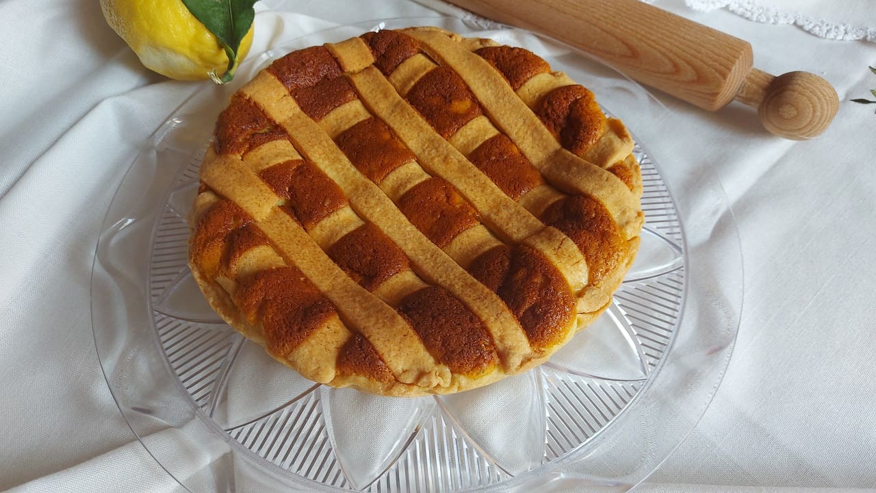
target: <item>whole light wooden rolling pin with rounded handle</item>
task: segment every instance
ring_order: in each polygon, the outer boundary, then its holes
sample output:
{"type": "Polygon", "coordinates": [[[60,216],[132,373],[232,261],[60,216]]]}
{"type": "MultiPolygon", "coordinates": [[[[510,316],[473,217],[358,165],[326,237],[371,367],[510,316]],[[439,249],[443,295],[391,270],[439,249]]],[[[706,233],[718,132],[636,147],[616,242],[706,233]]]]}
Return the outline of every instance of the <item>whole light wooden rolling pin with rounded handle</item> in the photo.
{"type": "Polygon", "coordinates": [[[754,106],[764,127],[786,139],[821,134],[839,109],[837,91],[822,77],[752,68],[747,42],[639,0],[449,1],[548,34],[704,110],[734,99],[754,106]]]}

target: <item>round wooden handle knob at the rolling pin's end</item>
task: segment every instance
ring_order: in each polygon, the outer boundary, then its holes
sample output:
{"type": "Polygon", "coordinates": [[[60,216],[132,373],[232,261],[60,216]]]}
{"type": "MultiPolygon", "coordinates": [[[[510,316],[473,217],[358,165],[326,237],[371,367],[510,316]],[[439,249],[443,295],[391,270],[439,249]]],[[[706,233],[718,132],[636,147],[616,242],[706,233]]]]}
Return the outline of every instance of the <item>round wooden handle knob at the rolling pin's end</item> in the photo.
{"type": "Polygon", "coordinates": [[[774,77],[752,68],[736,98],[757,107],[764,128],[786,139],[821,135],[839,110],[837,90],[809,72],[774,77]]]}

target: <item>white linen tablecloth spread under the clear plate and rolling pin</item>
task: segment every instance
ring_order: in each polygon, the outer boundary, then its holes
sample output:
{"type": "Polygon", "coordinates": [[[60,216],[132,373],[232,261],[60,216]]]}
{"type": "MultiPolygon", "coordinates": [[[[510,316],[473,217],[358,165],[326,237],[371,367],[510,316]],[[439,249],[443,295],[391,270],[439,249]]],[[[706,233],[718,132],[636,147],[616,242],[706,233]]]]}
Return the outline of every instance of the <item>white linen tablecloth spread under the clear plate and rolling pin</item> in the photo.
{"type": "MultiPolygon", "coordinates": [[[[660,96],[688,134],[648,146],[655,154],[701,146],[696,160],[675,165],[721,177],[738,221],[745,306],[709,411],[640,489],[874,489],[876,115],[849,99],[876,88],[867,69],[876,46],[656,4],[752,42],[758,68],[823,75],[842,103],[823,137],[792,142],[768,135],[741,106],[705,114],[660,96]]],[[[830,4],[872,10],[868,0],[830,4]]],[[[258,14],[253,54],[329,25],[435,15],[402,0],[293,9],[301,14],[258,14]]],[[[200,86],[142,68],[95,2],[0,3],[0,46],[0,489],[181,490],[109,395],[89,275],[124,171],[200,86]]]]}

